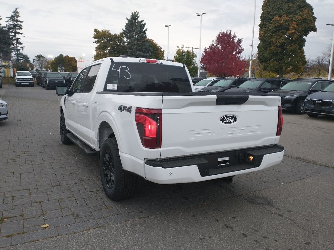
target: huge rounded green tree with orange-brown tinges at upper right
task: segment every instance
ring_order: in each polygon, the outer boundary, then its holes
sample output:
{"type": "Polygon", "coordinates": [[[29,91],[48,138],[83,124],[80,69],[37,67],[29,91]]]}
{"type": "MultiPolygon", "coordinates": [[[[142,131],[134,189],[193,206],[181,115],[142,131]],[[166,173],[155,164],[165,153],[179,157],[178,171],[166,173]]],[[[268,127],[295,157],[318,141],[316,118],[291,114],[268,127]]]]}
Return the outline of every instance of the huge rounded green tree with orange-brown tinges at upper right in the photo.
{"type": "Polygon", "coordinates": [[[305,38],[317,31],[313,7],[306,0],[265,0],[259,24],[258,59],[264,70],[282,77],[306,64],[305,38]]]}

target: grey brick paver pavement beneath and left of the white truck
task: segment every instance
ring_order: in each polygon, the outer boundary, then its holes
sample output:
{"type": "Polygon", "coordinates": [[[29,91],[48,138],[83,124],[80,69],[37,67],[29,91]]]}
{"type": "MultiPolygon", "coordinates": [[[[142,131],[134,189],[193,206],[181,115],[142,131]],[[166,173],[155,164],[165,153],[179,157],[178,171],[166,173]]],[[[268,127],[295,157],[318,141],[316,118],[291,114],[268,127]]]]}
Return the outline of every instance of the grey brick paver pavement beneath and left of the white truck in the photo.
{"type": "Polygon", "coordinates": [[[285,157],[277,166],[222,180],[159,185],[145,180],[132,199],[103,192],[96,157],[59,137],[59,100],[40,86],[0,89],[9,118],[0,122],[0,247],[210,203],[331,168],[285,157]],[[49,224],[48,227],[41,227],[49,224]]]}

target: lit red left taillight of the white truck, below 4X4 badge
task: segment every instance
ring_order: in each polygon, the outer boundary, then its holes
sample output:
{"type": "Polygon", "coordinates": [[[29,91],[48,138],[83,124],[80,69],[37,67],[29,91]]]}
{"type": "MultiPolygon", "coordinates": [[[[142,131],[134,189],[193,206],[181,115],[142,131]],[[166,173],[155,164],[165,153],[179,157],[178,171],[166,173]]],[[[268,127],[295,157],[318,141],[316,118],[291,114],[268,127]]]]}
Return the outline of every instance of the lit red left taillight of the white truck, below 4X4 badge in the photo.
{"type": "Polygon", "coordinates": [[[161,147],[162,109],[136,108],[136,124],[145,148],[161,147]]]}

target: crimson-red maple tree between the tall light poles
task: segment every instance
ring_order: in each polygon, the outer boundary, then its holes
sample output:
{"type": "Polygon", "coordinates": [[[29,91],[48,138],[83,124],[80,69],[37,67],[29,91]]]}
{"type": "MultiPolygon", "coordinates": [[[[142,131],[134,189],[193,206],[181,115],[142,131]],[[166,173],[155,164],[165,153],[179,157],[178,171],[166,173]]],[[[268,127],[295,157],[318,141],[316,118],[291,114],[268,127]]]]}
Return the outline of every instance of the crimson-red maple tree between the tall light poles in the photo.
{"type": "Polygon", "coordinates": [[[235,33],[221,31],[216,40],[204,48],[202,68],[218,77],[241,76],[247,67],[245,57],[241,57],[241,43],[242,39],[237,39],[235,33]]]}

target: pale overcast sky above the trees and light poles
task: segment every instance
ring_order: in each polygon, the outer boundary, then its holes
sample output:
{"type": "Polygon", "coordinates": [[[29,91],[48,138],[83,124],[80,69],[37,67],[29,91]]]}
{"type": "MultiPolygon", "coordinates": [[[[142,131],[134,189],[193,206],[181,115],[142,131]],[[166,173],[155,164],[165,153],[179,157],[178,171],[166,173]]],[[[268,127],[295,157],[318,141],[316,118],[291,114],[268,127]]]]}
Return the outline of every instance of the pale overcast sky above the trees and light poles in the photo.
{"type": "MultiPolygon", "coordinates": [[[[315,58],[331,45],[334,24],[334,0],[308,0],[314,8],[318,32],[311,32],[306,38],[306,57],[315,58]]],[[[254,50],[259,43],[259,23],[263,1],[257,0],[254,50]]],[[[120,33],[131,12],[139,11],[140,20],[145,20],[147,36],[165,50],[167,57],[167,28],[169,29],[169,58],[174,58],[176,46],[199,47],[200,17],[203,13],[201,51],[214,40],[220,31],[227,29],[242,38],[243,56],[251,54],[254,0],[129,0],[129,1],[2,1],[1,24],[5,25],[8,16],[19,7],[23,21],[21,41],[23,53],[30,60],[38,55],[58,56],[60,53],[73,57],[86,55],[93,60],[96,44],[93,43],[94,29],[120,33]]],[[[198,53],[198,50],[194,50],[198,53]]]]}

